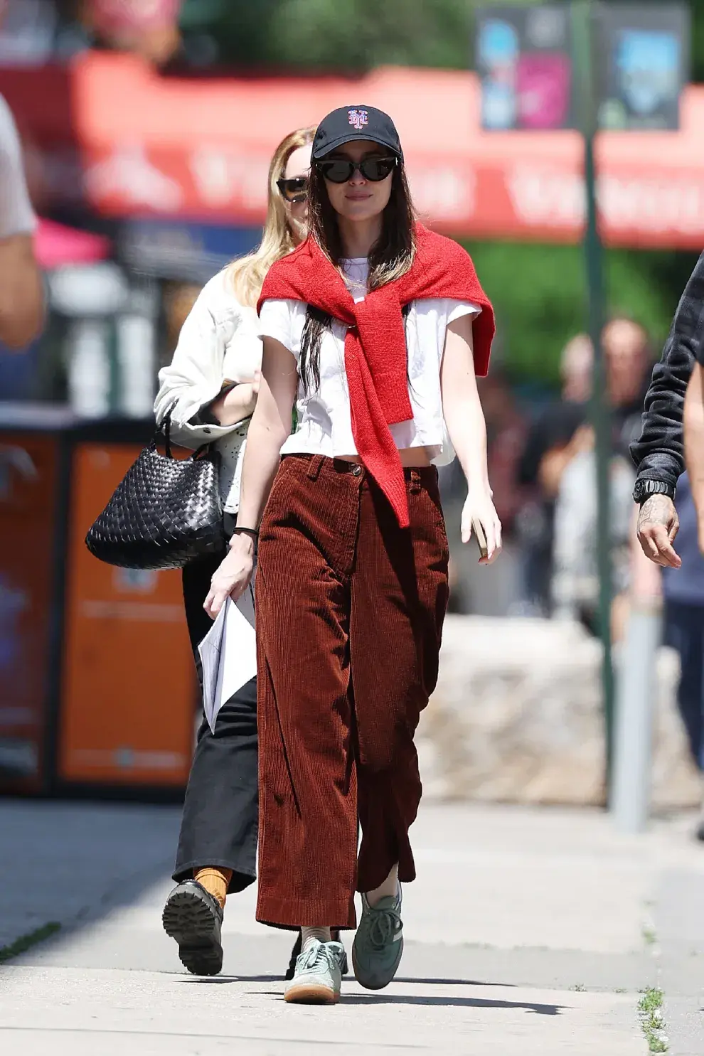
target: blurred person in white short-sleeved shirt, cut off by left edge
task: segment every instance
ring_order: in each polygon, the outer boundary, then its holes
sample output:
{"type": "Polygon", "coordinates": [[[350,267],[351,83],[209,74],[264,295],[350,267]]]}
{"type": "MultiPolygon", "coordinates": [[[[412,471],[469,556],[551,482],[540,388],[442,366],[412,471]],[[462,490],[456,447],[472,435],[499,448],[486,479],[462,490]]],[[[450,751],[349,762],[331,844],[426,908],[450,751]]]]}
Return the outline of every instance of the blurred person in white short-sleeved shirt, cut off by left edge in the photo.
{"type": "Polygon", "coordinates": [[[8,348],[26,347],[43,322],[36,226],[17,127],[0,95],[0,343],[8,348]]]}

